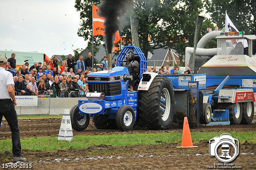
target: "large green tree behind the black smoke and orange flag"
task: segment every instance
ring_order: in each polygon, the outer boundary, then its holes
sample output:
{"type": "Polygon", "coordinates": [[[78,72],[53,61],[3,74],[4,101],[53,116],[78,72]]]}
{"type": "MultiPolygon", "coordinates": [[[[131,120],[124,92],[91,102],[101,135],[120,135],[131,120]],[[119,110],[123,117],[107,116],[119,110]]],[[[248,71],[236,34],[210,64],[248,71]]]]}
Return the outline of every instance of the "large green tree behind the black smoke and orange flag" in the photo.
{"type": "MultiPolygon", "coordinates": [[[[94,1],[96,5],[99,3],[99,0],[94,1]]],[[[131,45],[130,16],[138,17],[140,18],[139,43],[146,58],[148,52],[154,53],[155,49],[172,48],[180,54],[182,60],[185,48],[193,46],[196,17],[202,12],[203,3],[198,0],[135,0],[133,3],[133,8],[120,18],[122,29],[119,32],[123,37],[124,45],[131,45]]],[[[89,40],[88,47],[91,47],[92,2],[76,0],[75,8],[80,11],[82,19],[78,36],[89,40]]],[[[206,34],[208,27],[212,28],[213,25],[209,20],[205,20],[201,36],[206,34]]],[[[102,40],[102,36],[94,36],[95,46],[98,46],[102,40]]],[[[97,52],[96,49],[94,50],[97,52]]]]}

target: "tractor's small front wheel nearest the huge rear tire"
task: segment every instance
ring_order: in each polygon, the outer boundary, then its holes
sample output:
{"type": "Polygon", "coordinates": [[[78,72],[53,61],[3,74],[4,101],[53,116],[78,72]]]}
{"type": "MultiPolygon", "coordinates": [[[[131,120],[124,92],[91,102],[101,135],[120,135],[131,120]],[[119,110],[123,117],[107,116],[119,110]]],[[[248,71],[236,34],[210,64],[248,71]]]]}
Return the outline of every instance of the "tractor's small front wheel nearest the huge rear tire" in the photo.
{"type": "Polygon", "coordinates": [[[121,106],[116,114],[116,125],[119,130],[128,132],[135,122],[135,112],[129,105],[121,106]]]}

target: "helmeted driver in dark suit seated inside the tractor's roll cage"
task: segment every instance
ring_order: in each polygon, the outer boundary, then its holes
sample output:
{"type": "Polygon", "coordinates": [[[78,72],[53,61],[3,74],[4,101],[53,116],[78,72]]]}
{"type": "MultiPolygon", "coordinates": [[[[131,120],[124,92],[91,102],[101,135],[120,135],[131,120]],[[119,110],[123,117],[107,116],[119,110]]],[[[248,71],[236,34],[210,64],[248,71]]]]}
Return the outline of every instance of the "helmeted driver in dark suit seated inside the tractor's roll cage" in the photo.
{"type": "Polygon", "coordinates": [[[135,80],[139,79],[139,63],[135,60],[135,54],[132,51],[126,53],[126,61],[130,62],[127,63],[126,67],[128,68],[130,75],[133,76],[133,79],[129,81],[130,92],[133,92],[134,82],[135,80]]]}

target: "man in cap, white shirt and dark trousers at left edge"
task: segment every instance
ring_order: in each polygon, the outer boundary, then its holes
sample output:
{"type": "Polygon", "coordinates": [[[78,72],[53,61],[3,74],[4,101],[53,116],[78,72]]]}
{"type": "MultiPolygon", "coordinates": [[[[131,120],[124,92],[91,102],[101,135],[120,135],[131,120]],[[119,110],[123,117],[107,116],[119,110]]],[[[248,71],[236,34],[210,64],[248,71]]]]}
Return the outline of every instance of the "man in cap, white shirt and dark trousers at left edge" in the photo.
{"type": "MultiPolygon", "coordinates": [[[[0,122],[2,118],[6,119],[12,131],[12,153],[13,162],[24,162],[27,159],[21,156],[20,130],[18,126],[18,117],[14,106],[17,105],[13,86],[12,74],[5,70],[7,59],[0,55],[0,122]]],[[[0,125],[1,126],[1,125],[0,125]]]]}

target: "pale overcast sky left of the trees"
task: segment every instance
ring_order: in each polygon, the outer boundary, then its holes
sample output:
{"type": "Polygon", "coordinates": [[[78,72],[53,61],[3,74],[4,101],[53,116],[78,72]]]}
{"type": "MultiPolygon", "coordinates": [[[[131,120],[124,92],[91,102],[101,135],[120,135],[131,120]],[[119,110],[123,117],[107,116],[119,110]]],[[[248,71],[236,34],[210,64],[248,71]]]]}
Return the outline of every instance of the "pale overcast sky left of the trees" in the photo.
{"type": "Polygon", "coordinates": [[[77,35],[81,20],[74,0],[0,2],[0,50],[37,51],[51,57],[86,48],[77,35]]]}

